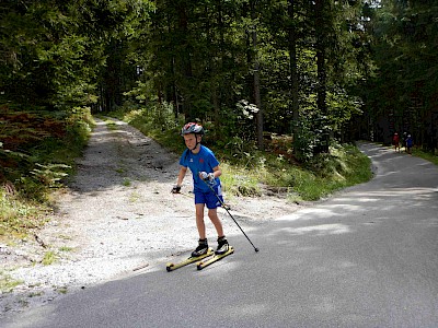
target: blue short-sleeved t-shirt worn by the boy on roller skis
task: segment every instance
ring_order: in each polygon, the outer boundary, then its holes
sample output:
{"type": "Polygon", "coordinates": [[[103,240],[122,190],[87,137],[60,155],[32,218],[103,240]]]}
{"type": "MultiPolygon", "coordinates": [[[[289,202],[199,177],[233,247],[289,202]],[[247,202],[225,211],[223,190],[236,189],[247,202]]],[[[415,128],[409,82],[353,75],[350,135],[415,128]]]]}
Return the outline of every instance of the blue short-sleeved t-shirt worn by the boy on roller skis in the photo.
{"type": "MultiPolygon", "coordinates": [[[[194,191],[210,191],[206,183],[200,179],[199,172],[212,173],[212,168],[219,165],[211,150],[205,145],[200,145],[199,152],[194,154],[191,150],[186,149],[180,159],[180,165],[188,167],[192,171],[194,191]]],[[[215,184],[220,185],[220,179],[216,178],[215,184]]]]}

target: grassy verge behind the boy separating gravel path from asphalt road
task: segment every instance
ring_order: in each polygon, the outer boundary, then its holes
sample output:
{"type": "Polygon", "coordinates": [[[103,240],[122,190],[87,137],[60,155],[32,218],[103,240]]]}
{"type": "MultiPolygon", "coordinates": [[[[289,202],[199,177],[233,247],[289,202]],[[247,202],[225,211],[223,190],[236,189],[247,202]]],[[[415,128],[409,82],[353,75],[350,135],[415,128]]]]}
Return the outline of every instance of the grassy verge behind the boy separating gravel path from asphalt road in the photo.
{"type": "MultiPolygon", "coordinates": [[[[164,118],[158,124],[146,109],[122,108],[110,116],[132,125],[177,154],[185,150],[178,134],[183,121],[175,124],[174,118],[164,118]]],[[[203,143],[216,153],[223,172],[223,189],[233,196],[260,196],[272,189],[286,192],[291,201],[312,201],[372,177],[370,160],[353,144],[334,144],[330,154],[316,155],[301,164],[291,155],[290,136],[277,136],[270,144],[267,142],[265,152],[239,138],[222,144],[209,138],[206,134],[203,143]]]]}

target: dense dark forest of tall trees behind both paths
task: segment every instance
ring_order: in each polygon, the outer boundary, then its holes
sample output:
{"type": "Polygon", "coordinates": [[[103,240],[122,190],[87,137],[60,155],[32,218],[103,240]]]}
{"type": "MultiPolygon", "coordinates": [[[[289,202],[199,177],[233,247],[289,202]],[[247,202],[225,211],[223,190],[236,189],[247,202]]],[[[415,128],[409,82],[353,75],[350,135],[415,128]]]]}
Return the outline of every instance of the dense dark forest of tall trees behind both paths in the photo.
{"type": "Polygon", "coordinates": [[[196,120],[244,154],[284,136],[297,163],[396,131],[438,148],[438,0],[3,0],[0,19],[3,184],[61,179],[42,140],[80,148],[107,113],[196,120]]]}

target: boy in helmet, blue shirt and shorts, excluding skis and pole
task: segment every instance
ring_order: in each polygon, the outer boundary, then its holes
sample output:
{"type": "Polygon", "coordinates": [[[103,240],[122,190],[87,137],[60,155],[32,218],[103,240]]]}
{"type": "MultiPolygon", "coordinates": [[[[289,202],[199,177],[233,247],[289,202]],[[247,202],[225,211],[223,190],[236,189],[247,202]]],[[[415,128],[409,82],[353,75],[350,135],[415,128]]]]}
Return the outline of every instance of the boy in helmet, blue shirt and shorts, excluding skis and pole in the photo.
{"type": "Polygon", "coordinates": [[[192,253],[193,257],[198,257],[207,253],[208,243],[206,226],[204,223],[204,208],[208,208],[208,218],[215,225],[218,234],[218,248],[216,254],[223,254],[229,249],[227,238],[223,234],[222,223],[219,220],[217,208],[221,204],[216,195],[222,200],[222,192],[219,176],[222,174],[219,162],[211,150],[200,144],[204,136],[204,128],[195,122],[188,122],[181,129],[187,149],[180,159],[180,173],[176,186],[172,192],[177,194],[187,172],[187,167],[193,174],[193,186],[195,194],[196,226],[199,234],[198,247],[192,253]],[[209,184],[209,186],[207,185],[209,184]],[[215,190],[215,192],[210,189],[215,190]]]}

